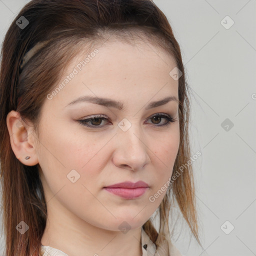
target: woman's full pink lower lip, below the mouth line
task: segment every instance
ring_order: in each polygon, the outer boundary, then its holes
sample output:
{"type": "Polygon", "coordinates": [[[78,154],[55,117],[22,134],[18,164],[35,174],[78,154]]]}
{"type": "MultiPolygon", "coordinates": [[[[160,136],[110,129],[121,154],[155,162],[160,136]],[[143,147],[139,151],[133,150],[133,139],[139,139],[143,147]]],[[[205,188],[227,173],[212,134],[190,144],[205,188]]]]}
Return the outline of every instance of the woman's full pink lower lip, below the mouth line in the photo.
{"type": "Polygon", "coordinates": [[[137,187],[137,188],[121,188],[121,187],[104,187],[110,193],[119,195],[125,199],[133,199],[141,196],[148,187],[137,187]]]}

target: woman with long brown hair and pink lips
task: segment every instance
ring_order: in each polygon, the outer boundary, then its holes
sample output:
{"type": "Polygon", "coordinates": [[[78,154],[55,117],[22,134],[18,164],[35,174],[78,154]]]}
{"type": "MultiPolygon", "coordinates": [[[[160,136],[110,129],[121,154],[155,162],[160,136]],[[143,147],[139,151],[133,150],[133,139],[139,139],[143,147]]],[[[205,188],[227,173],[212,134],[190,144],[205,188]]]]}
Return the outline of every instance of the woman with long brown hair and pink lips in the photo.
{"type": "Polygon", "coordinates": [[[32,0],[1,55],[6,256],[181,255],[175,203],[199,242],[184,67],[151,0],[32,0]]]}

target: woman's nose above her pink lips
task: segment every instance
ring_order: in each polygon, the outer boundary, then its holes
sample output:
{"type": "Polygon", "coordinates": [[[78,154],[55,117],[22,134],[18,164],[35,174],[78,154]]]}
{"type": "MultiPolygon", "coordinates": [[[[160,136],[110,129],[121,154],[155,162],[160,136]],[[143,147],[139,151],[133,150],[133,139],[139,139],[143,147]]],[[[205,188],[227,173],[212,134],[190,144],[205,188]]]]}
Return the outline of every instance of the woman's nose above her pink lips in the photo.
{"type": "Polygon", "coordinates": [[[115,139],[113,163],[117,167],[138,170],[150,162],[148,155],[150,149],[146,137],[135,124],[126,131],[118,129],[115,139]]]}

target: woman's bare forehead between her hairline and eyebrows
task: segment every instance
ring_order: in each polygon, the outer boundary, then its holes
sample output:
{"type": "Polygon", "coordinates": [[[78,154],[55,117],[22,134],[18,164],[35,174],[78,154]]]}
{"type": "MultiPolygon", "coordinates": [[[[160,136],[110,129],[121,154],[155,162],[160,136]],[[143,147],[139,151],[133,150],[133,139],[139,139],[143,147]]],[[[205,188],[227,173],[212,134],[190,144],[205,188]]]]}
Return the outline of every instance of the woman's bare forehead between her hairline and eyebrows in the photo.
{"type": "Polygon", "coordinates": [[[145,102],[154,95],[152,100],[167,94],[178,97],[178,81],[169,75],[174,67],[170,54],[149,43],[107,41],[92,46],[86,53],[81,50],[73,58],[58,82],[64,84],[64,89],[57,92],[51,103],[61,100],[66,105],[82,95],[134,103],[143,101],[142,95],[145,102]]]}

